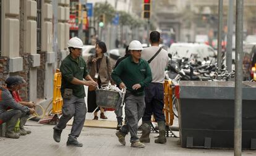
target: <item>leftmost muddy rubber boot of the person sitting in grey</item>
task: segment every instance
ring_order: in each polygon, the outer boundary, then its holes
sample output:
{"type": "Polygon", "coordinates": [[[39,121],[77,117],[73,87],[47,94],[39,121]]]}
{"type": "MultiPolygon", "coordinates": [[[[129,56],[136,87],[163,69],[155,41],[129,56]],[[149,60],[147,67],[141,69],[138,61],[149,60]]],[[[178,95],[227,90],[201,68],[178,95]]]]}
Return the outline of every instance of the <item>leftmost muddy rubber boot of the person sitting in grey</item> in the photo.
{"type": "Polygon", "coordinates": [[[19,139],[20,134],[14,132],[15,125],[19,120],[21,112],[17,112],[9,121],[6,122],[6,138],[19,139]]]}

